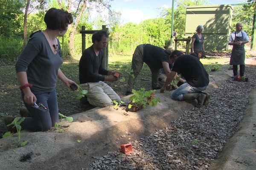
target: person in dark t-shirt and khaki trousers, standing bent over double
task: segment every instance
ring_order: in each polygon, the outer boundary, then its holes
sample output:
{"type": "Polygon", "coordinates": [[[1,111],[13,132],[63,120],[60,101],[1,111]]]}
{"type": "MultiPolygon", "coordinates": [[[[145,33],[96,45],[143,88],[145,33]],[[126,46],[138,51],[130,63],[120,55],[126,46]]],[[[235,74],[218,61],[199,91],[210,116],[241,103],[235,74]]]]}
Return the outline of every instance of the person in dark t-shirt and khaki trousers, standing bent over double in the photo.
{"type": "Polygon", "coordinates": [[[171,54],[170,50],[164,50],[163,48],[157,47],[151,44],[141,44],[138,45],[134,51],[131,61],[131,68],[133,71],[134,77],[131,75],[128,79],[128,86],[126,88],[125,95],[132,94],[132,88],[134,86],[135,79],[139,75],[143,63],[145,62],[151,70],[151,87],[152,89],[160,89],[161,86],[158,85],[158,76],[160,69],[163,68],[166,74],[169,74],[170,68],[169,64],[169,55],[171,54]]]}

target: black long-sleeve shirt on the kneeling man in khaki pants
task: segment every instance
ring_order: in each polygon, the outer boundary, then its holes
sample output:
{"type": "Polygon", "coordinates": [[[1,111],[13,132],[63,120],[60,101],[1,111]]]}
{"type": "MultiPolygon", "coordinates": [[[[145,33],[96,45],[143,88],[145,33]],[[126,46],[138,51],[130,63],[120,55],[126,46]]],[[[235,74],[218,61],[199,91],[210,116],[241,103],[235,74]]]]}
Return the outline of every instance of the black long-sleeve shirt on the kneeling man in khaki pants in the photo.
{"type": "Polygon", "coordinates": [[[79,61],[79,81],[80,84],[87,82],[104,81],[105,77],[100,76],[108,75],[108,71],[102,68],[103,51],[99,51],[96,56],[93,45],[84,50],[82,57],[79,61]]]}

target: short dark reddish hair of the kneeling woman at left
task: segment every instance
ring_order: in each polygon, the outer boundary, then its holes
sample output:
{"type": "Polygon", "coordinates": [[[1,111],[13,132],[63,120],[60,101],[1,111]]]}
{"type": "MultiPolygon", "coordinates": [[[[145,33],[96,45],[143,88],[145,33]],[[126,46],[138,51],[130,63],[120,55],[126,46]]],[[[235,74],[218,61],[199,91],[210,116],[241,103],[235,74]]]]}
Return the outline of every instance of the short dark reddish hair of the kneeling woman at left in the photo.
{"type": "Polygon", "coordinates": [[[44,22],[49,29],[64,31],[73,23],[73,16],[63,9],[50,8],[44,15],[44,22]]]}

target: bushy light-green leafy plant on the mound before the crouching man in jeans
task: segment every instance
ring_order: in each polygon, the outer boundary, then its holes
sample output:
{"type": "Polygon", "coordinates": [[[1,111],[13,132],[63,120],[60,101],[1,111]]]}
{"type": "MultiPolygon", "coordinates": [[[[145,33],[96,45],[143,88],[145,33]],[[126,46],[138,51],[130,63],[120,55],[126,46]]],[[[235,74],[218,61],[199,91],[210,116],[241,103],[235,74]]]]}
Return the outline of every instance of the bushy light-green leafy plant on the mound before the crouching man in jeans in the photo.
{"type": "Polygon", "coordinates": [[[132,89],[132,93],[134,95],[132,95],[129,99],[131,100],[131,103],[133,103],[133,104],[129,104],[128,108],[130,109],[133,105],[137,105],[138,107],[143,105],[143,108],[145,108],[147,106],[147,103],[150,106],[157,105],[157,102],[160,102],[159,97],[151,99],[150,101],[148,101],[148,99],[147,99],[148,97],[150,97],[152,95],[153,92],[156,92],[156,90],[145,91],[145,88],[141,88],[140,90],[136,91],[136,90],[132,89]]]}

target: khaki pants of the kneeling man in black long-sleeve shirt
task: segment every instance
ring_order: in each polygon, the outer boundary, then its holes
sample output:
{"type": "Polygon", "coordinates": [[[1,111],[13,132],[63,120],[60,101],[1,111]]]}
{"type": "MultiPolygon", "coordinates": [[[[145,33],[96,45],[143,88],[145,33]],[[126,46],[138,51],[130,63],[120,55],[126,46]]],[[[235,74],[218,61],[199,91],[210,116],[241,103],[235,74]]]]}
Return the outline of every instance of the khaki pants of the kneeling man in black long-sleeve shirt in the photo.
{"type": "Polygon", "coordinates": [[[93,106],[104,108],[113,105],[112,100],[116,100],[116,102],[121,100],[105,82],[88,82],[81,84],[80,87],[88,91],[86,94],[87,101],[93,106]]]}

